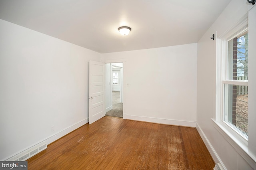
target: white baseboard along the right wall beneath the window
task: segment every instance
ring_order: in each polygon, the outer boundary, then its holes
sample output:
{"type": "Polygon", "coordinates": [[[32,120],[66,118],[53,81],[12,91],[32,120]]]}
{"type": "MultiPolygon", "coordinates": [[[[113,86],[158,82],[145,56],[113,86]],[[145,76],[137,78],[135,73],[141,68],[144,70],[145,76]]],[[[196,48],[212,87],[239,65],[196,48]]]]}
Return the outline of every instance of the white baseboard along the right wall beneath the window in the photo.
{"type": "Polygon", "coordinates": [[[200,126],[197,123],[196,123],[196,129],[197,129],[198,133],[200,134],[202,140],[204,141],[204,144],[206,145],[207,149],[209,150],[214,162],[220,163],[221,166],[224,168],[224,170],[227,170],[226,167],[224,166],[222,160],[218,156],[217,152],[214,150],[212,144],[210,143],[210,141],[204,134],[203,130],[200,128],[200,126]]]}

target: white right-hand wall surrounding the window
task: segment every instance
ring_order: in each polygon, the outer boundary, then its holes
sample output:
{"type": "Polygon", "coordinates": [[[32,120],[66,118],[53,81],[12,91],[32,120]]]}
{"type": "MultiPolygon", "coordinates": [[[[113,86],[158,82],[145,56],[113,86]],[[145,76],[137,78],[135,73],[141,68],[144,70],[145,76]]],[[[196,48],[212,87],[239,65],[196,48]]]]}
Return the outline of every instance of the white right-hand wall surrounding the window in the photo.
{"type": "MultiPolygon", "coordinates": [[[[232,0],[198,42],[197,126],[200,135],[208,146],[208,149],[211,152],[215,162],[224,164],[228,170],[253,169],[252,164],[255,164],[255,162],[250,160],[248,156],[239,154],[237,151],[239,148],[235,148],[234,144],[231,144],[231,140],[228,141],[226,138],[224,138],[223,133],[219,132],[217,128],[214,127],[212,118],[215,118],[216,114],[216,40],[211,40],[210,36],[217,32],[218,38],[218,35],[221,35],[227,31],[246,14],[247,1],[232,0]],[[252,163],[251,165],[248,163],[250,161],[252,163]]],[[[253,65],[255,64],[256,63],[253,65]]],[[[251,73],[253,73],[253,68],[250,69],[251,73]]],[[[256,73],[255,67],[253,71],[256,73]]],[[[250,88],[250,90],[250,92],[255,93],[255,89],[250,88]]],[[[252,133],[254,133],[255,136],[255,131],[252,133]]]]}

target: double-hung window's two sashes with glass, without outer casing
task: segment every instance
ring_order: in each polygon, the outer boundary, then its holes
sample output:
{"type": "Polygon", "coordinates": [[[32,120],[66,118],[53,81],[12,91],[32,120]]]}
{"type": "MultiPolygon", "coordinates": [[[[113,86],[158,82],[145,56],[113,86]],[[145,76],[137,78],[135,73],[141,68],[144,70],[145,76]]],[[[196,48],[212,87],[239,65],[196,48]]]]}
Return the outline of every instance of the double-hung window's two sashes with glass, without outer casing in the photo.
{"type": "Polygon", "coordinates": [[[248,31],[227,42],[223,56],[223,120],[248,138],[248,31]]]}

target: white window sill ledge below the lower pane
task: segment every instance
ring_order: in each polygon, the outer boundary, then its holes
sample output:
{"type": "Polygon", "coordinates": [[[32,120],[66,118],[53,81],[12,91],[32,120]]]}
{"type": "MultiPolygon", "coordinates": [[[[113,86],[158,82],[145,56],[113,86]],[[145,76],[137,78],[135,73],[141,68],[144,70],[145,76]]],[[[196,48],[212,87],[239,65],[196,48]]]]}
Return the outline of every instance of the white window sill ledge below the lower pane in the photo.
{"type": "Polygon", "coordinates": [[[225,125],[225,123],[215,121],[214,122],[214,128],[220,132],[220,134],[231,144],[231,146],[248,162],[250,165],[255,165],[256,157],[252,154],[250,154],[248,149],[248,142],[241,138],[241,140],[237,137],[234,132],[232,132],[231,129],[228,129],[229,127],[225,125]],[[227,128],[228,127],[228,128],[227,128]]]}

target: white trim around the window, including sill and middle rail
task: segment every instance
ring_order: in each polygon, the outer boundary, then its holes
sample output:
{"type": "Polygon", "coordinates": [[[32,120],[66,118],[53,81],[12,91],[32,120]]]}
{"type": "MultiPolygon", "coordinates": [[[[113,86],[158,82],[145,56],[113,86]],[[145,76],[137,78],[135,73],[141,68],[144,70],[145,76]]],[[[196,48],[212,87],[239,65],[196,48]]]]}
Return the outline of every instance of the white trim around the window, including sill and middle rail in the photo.
{"type": "MultiPolygon", "coordinates": [[[[226,45],[228,40],[231,40],[234,36],[239,35],[239,33],[248,30],[248,15],[244,15],[234,26],[224,32],[221,36],[218,36],[216,32],[216,113],[212,121],[214,122],[214,127],[222,136],[238,151],[238,153],[246,158],[249,164],[254,164],[256,162],[256,157],[249,151],[248,143],[250,138],[245,138],[242,134],[239,134],[222,121],[223,105],[224,102],[224,83],[226,84],[236,84],[236,85],[247,85],[248,80],[237,81],[237,80],[223,80],[223,74],[226,74],[226,70],[222,67],[227,61],[223,61],[223,55],[227,54],[226,45]]],[[[249,114],[249,113],[248,113],[249,114]]]]}

